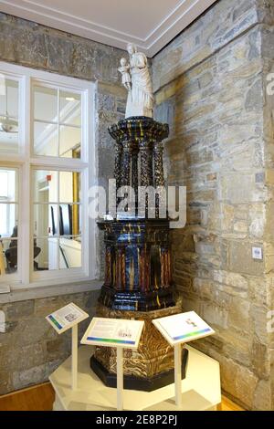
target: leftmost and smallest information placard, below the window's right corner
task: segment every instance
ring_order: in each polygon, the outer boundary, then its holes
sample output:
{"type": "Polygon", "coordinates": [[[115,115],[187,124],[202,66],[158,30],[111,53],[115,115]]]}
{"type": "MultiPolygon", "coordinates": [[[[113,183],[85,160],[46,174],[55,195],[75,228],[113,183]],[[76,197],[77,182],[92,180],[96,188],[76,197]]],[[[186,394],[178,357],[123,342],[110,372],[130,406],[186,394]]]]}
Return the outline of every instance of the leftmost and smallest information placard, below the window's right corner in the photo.
{"type": "Polygon", "coordinates": [[[47,321],[50,325],[61,334],[65,330],[69,330],[73,326],[77,325],[80,321],[88,319],[89,314],[79,309],[79,307],[71,302],[62,309],[58,309],[52,314],[47,316],[47,321]]]}

